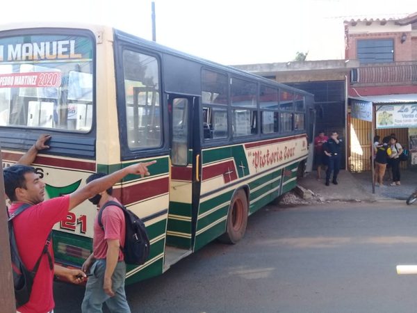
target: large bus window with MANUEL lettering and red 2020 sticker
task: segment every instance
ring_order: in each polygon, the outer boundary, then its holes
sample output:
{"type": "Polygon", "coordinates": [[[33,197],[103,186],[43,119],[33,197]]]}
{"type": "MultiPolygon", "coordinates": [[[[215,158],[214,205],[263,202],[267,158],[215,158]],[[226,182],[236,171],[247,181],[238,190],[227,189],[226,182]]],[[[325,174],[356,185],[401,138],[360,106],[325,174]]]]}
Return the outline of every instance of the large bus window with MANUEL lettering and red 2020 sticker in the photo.
{"type": "Polygon", "coordinates": [[[83,36],[0,38],[0,126],[90,131],[92,55],[83,36]]]}

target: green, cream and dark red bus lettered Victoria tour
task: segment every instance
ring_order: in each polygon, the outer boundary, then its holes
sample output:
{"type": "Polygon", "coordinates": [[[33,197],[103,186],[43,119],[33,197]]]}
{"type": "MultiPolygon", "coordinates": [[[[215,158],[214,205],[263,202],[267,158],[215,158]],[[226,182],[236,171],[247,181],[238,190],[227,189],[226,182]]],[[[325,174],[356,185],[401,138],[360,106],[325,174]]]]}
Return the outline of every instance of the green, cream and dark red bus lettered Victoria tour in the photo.
{"type": "MultiPolygon", "coordinates": [[[[93,172],[157,161],[114,186],[151,242],[127,284],[214,239],[237,243],[248,216],[296,186],[313,124],[309,93],[109,26],[0,26],[3,167],[51,134],[33,167],[54,198],[93,172]]],[[[85,202],[55,225],[58,264],[90,255],[95,214],[85,202]]]]}

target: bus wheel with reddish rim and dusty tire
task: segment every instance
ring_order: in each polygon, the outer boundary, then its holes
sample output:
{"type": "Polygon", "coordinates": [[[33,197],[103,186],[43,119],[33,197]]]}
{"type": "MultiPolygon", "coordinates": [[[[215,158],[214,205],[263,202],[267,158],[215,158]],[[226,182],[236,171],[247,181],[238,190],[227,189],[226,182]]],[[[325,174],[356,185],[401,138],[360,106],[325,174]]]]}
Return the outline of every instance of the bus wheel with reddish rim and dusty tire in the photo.
{"type": "Polygon", "coordinates": [[[226,232],[219,237],[222,243],[235,244],[246,231],[248,204],[246,193],[239,189],[231,200],[229,213],[227,214],[226,232]]]}

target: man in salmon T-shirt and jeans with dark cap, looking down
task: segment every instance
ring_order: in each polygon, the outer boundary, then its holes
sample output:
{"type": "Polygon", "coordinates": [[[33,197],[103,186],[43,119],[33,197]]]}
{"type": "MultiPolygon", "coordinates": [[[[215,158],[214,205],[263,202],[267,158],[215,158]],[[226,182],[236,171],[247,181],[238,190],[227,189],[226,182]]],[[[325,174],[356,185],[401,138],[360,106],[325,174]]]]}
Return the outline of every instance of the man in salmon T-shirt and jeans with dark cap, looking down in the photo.
{"type": "MultiPolygon", "coordinates": [[[[106,177],[106,174],[90,175],[87,182],[101,177],[106,177]]],[[[89,200],[99,210],[108,201],[119,202],[112,194],[113,188],[108,188],[89,200]]],[[[103,303],[106,303],[111,312],[130,313],[124,292],[126,264],[121,249],[126,232],[124,213],[120,207],[108,205],[101,214],[103,227],[99,225],[98,215],[94,220],[92,254],[82,266],[85,273],[90,271],[92,275],[85,286],[81,310],[83,313],[102,312],[103,303]]]]}

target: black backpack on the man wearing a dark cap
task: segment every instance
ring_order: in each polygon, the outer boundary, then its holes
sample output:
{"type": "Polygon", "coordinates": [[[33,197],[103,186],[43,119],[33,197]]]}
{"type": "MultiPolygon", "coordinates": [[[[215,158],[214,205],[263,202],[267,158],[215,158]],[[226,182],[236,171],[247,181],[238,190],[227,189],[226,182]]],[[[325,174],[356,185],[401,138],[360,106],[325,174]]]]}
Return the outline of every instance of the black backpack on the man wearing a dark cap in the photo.
{"type": "Polygon", "coordinates": [[[120,247],[123,251],[124,262],[126,264],[142,265],[149,257],[149,237],[146,232],[145,224],[132,211],[126,209],[122,204],[115,201],[106,202],[101,207],[98,216],[100,227],[104,230],[101,223],[101,215],[103,210],[109,205],[120,207],[124,213],[124,220],[126,223],[126,236],[124,237],[124,247],[120,247]]]}

